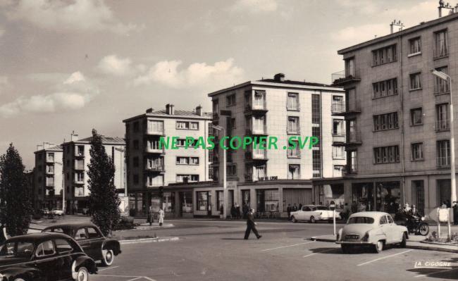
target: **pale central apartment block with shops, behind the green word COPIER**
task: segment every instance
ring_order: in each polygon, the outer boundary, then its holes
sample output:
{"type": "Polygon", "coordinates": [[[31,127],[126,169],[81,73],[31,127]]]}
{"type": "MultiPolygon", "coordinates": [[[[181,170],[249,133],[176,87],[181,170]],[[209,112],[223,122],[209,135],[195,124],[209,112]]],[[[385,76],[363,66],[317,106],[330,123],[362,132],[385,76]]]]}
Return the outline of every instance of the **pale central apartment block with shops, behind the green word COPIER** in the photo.
{"type": "MultiPolygon", "coordinates": [[[[319,204],[311,179],[338,177],[345,166],[344,120],[331,108],[345,101],[340,87],[273,79],[249,81],[209,94],[213,125],[230,137],[277,137],[278,149],[228,150],[228,208],[233,204],[286,215],[288,204],[319,204]],[[288,137],[318,137],[312,149],[284,149],[288,137]]],[[[221,131],[220,131],[221,132],[221,131]]],[[[213,131],[218,140],[223,135],[213,131]]],[[[194,185],[194,216],[218,216],[223,206],[223,149],[213,153],[213,185],[194,185]]],[[[229,213],[229,212],[228,212],[229,213]]]]}

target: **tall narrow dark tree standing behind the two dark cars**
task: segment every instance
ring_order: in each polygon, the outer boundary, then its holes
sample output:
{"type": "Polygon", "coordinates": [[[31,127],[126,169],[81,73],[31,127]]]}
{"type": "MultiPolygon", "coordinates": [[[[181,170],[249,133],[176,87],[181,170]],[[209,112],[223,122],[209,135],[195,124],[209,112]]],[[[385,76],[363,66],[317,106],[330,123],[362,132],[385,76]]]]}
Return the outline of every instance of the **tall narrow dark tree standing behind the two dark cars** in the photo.
{"type": "Polygon", "coordinates": [[[92,130],[89,170],[89,213],[92,223],[104,235],[110,235],[120,218],[120,200],[114,185],[115,166],[105,151],[101,135],[92,130]]]}

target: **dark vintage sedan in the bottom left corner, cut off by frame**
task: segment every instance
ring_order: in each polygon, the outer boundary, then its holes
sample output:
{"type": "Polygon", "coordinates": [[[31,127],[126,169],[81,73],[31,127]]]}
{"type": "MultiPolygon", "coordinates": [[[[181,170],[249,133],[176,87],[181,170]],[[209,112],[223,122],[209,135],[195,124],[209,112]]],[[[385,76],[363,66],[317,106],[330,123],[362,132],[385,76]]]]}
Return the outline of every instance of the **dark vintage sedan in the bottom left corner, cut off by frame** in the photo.
{"type": "Polygon", "coordinates": [[[68,235],[21,235],[0,246],[1,281],[87,281],[95,273],[94,260],[68,235]]]}

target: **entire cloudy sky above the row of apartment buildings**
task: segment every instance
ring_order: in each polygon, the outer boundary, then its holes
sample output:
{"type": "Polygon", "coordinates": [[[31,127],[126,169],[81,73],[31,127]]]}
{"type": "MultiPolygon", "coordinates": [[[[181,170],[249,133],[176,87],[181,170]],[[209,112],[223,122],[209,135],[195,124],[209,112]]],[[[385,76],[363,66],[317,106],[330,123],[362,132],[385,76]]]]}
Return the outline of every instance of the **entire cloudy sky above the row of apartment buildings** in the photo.
{"type": "Polygon", "coordinates": [[[285,73],[330,84],[338,49],[438,17],[438,1],[0,0],[0,154],[26,168],[75,131],[123,137],[165,104],[211,111],[208,93],[285,73]]]}

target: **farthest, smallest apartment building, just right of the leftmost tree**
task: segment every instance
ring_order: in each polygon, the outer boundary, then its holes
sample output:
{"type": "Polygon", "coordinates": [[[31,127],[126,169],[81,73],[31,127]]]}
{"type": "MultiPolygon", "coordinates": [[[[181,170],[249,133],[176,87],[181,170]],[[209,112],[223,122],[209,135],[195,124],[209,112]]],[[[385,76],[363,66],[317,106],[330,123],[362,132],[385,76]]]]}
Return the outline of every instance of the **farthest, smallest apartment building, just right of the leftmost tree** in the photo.
{"type": "MultiPolygon", "coordinates": [[[[33,182],[34,208],[62,208],[62,147],[44,142],[35,151],[33,182]]],[[[30,180],[30,179],[29,179],[30,180]]]]}

